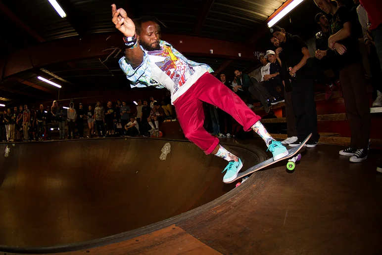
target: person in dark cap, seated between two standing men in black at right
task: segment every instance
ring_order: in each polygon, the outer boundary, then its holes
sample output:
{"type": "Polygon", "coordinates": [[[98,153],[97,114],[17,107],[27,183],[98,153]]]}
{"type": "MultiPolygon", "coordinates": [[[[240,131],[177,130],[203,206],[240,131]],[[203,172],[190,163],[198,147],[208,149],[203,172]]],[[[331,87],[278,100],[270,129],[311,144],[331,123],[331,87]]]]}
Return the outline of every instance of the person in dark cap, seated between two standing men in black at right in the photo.
{"type": "Polygon", "coordinates": [[[335,90],[334,83],[324,73],[325,70],[332,69],[334,79],[338,80],[338,69],[333,65],[333,57],[335,53],[328,47],[328,39],[330,37],[330,27],[327,17],[323,13],[318,13],[315,21],[321,27],[321,31],[316,34],[316,51],[313,57],[310,57],[306,64],[314,72],[316,80],[326,85],[325,99],[332,98],[335,90]]]}

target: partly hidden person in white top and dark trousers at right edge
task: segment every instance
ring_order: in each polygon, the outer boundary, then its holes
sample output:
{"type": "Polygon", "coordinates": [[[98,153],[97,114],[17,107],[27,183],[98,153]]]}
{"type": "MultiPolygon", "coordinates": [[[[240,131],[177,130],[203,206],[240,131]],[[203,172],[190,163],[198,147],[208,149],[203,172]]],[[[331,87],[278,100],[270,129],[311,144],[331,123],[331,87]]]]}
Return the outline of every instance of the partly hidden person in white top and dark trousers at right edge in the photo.
{"type": "MultiPolygon", "coordinates": [[[[359,4],[359,0],[354,0],[356,4],[359,4]]],[[[382,65],[378,58],[377,49],[375,46],[375,42],[371,33],[369,32],[369,18],[365,8],[359,4],[357,7],[358,19],[359,23],[362,27],[362,33],[364,42],[366,45],[366,51],[368,54],[368,60],[370,65],[371,72],[371,80],[373,84],[373,88],[375,90],[375,94],[377,95],[376,100],[373,102],[373,107],[381,107],[382,106],[382,83],[380,78],[382,77],[382,65]]]]}

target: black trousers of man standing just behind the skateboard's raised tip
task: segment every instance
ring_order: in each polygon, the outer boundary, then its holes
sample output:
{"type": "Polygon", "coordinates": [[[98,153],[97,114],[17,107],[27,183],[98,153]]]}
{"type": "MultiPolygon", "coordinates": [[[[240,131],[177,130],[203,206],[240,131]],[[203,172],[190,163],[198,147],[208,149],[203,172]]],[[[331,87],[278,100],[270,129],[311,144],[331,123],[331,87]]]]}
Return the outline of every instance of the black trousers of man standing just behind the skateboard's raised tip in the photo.
{"type": "Polygon", "coordinates": [[[317,132],[317,111],[312,79],[301,77],[292,81],[292,102],[298,139],[303,141],[312,133],[310,140],[318,141],[320,135],[317,132]]]}

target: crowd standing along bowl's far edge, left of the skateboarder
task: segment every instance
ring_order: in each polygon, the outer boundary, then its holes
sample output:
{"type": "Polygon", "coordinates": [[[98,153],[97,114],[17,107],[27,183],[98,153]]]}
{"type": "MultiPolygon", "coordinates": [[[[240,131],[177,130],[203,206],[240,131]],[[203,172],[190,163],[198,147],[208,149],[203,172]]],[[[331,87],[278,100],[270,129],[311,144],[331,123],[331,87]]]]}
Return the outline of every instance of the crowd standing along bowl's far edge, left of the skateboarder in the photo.
{"type": "Polygon", "coordinates": [[[20,105],[4,110],[0,114],[0,141],[43,141],[85,137],[148,136],[150,131],[159,129],[166,119],[176,119],[174,109],[168,101],[169,94],[162,98],[161,104],[150,97],[150,103],[137,100],[133,112],[126,101],[113,104],[108,101],[106,107],[101,102],[88,105],[82,103],[76,107],[71,101],[69,107],[53,101],[51,106],[38,109],[32,105],[20,105]],[[52,135],[55,134],[55,135],[52,135]]]}

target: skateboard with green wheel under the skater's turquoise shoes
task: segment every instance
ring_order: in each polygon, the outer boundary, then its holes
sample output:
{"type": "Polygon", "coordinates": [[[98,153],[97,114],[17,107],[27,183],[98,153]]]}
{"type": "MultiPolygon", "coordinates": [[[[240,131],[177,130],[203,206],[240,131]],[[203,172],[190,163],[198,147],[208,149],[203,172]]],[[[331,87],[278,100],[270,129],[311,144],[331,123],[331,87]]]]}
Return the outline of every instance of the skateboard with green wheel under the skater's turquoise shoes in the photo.
{"type": "Polygon", "coordinates": [[[245,170],[245,171],[243,171],[243,172],[239,172],[239,173],[238,173],[238,176],[237,176],[234,180],[232,180],[232,181],[230,181],[230,182],[226,182],[226,183],[234,182],[234,181],[236,181],[236,180],[238,180],[238,179],[240,179],[240,178],[243,178],[244,176],[246,176],[246,175],[248,175],[248,174],[250,174],[250,173],[253,173],[253,172],[255,172],[255,171],[261,170],[261,169],[263,169],[263,168],[266,168],[266,167],[268,167],[268,166],[271,166],[272,164],[275,164],[275,163],[277,163],[277,162],[279,162],[279,161],[286,160],[286,159],[288,159],[288,162],[286,163],[286,169],[287,169],[287,170],[290,170],[290,171],[291,171],[291,170],[294,170],[294,168],[295,168],[295,163],[296,163],[297,161],[301,160],[301,154],[298,154],[298,155],[297,155],[297,153],[301,150],[302,147],[304,147],[305,143],[309,140],[309,138],[310,138],[311,136],[312,136],[312,134],[309,134],[309,135],[305,138],[305,140],[303,140],[303,141],[301,142],[301,144],[300,144],[299,146],[297,146],[297,147],[293,147],[293,148],[289,149],[289,150],[288,150],[288,155],[286,155],[284,158],[278,159],[278,160],[276,160],[276,161],[274,161],[273,158],[270,158],[270,159],[268,159],[268,160],[266,160],[266,161],[263,161],[263,162],[257,164],[256,166],[253,166],[253,167],[251,167],[251,168],[249,168],[249,169],[247,169],[247,170],[245,170]]]}

